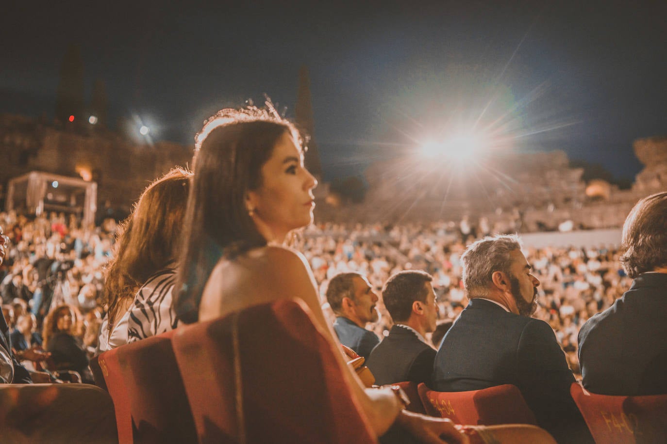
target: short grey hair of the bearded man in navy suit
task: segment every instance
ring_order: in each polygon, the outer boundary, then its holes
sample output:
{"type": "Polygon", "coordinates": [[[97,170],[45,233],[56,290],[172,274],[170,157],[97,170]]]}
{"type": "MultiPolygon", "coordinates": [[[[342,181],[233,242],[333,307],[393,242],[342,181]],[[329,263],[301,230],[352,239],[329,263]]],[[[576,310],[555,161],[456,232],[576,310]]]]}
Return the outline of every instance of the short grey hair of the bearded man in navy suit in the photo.
{"type": "Polygon", "coordinates": [[[516,234],[486,236],[466,248],[461,260],[468,298],[486,296],[494,272],[504,272],[510,276],[510,252],[514,250],[521,250],[521,241],[516,234]],[[477,294],[473,295],[472,292],[477,294]]]}

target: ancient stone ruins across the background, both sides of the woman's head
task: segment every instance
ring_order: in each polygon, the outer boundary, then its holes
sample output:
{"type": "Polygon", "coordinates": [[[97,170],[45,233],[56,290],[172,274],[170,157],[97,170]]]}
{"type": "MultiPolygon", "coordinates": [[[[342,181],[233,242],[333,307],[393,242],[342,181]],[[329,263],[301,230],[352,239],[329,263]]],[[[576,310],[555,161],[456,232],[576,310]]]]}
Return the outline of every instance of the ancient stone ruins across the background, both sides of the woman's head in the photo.
{"type": "MultiPolygon", "coordinates": [[[[86,168],[98,182],[98,208],[108,202],[127,211],[151,180],[175,165],[191,163],[192,149],[171,142],[137,143],[102,129],[61,130],[43,119],[2,114],[0,164],[12,168],[0,168],[0,185],[31,170],[79,176],[78,170],[86,168]]],[[[410,168],[397,160],[386,160],[367,169],[370,189],[362,204],[333,204],[322,195],[325,186],[318,187],[315,218],[391,223],[460,220],[468,215],[471,220],[485,216],[493,224],[516,216],[520,210],[528,230],[538,226],[554,229],[568,219],[587,228],[620,226],[637,200],[667,190],[667,138],[638,139],[634,152],[645,168],[636,176],[632,189],[619,190],[603,183],[602,199],[586,196],[583,171],[569,168],[562,151],[506,157],[498,165],[512,182],[500,184],[487,176],[486,182],[455,183],[449,194],[437,175],[416,174],[408,180],[396,180],[409,174],[410,168]],[[514,216],[508,216],[511,214],[514,216]]]]}

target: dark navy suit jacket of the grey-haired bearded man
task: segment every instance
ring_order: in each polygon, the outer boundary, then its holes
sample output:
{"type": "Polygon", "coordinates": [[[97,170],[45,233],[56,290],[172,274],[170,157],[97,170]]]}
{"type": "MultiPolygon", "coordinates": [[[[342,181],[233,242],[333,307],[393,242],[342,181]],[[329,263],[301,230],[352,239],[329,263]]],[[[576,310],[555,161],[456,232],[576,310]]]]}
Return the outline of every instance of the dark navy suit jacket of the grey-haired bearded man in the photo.
{"type": "Polygon", "coordinates": [[[570,396],[574,382],[546,322],[472,298],[436,355],[433,389],[468,391],[516,385],[540,427],[563,443],[592,442],[570,396]]]}

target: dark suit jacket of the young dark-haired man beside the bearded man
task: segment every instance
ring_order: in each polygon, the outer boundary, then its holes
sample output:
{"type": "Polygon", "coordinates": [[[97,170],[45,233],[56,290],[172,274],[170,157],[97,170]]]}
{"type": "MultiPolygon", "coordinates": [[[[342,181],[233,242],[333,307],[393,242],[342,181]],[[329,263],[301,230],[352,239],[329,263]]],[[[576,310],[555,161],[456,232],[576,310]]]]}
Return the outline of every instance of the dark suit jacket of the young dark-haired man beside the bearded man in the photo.
{"type": "Polygon", "coordinates": [[[424,382],[430,385],[436,349],[420,341],[417,335],[400,326],[393,326],[366,360],[376,378],[376,384],[402,381],[424,382]]]}

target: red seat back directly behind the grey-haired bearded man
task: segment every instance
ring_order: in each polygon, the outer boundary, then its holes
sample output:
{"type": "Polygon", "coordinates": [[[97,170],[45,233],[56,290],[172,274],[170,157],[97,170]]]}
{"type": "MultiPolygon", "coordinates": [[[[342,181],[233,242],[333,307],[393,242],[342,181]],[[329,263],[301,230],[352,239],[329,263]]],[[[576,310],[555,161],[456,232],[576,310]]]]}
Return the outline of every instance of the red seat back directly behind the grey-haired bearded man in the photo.
{"type": "Polygon", "coordinates": [[[534,413],[516,385],[472,391],[434,391],[421,383],[418,390],[429,415],[450,418],[457,424],[537,425],[534,413]]]}

